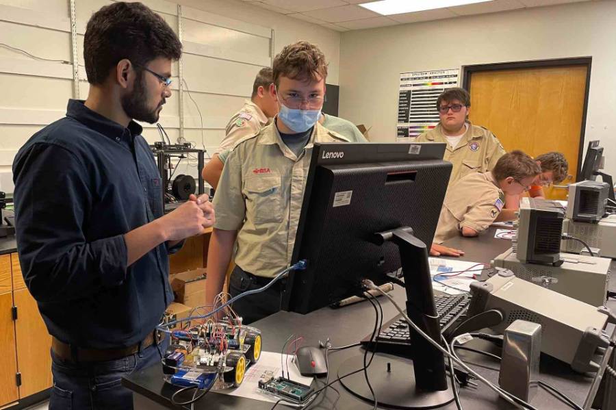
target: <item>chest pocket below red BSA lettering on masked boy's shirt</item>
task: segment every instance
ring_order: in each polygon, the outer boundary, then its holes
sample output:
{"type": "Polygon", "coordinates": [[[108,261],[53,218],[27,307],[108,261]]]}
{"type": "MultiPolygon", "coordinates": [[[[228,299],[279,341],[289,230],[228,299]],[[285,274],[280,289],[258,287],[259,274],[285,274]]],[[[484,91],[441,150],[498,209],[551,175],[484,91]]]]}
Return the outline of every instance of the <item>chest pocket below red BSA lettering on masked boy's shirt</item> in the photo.
{"type": "Polygon", "coordinates": [[[249,177],[246,190],[246,218],[255,224],[282,222],[281,176],[277,174],[249,177]]]}

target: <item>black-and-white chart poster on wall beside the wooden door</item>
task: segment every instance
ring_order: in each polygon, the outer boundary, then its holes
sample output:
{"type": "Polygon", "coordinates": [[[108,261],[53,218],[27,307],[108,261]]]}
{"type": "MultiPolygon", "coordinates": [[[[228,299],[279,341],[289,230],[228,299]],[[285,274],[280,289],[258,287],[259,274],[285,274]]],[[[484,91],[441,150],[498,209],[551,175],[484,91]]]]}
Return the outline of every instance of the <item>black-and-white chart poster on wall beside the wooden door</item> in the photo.
{"type": "Polygon", "coordinates": [[[459,69],[400,73],[398,93],[398,138],[409,139],[433,129],[439,122],[439,94],[458,86],[459,69]]]}

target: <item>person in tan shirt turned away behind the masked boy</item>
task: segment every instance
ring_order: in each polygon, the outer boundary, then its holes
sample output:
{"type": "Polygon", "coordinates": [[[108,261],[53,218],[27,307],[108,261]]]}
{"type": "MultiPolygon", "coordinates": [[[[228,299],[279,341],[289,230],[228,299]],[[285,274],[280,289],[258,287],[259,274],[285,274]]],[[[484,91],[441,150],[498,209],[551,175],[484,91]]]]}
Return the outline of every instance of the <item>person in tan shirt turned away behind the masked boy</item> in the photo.
{"type": "Polygon", "coordinates": [[[272,68],[261,68],[253,83],[251,99],[244,101],[242,109],[233,114],[229,120],[224,131],[224,138],[201,171],[203,179],[212,188],[216,189],[222,166],[224,166],[220,154],[225,153],[224,158],[226,159],[227,151],[233,148],[238,141],[254,136],[278,113],[278,103],[269,92],[270,84],[273,82],[272,68]]]}

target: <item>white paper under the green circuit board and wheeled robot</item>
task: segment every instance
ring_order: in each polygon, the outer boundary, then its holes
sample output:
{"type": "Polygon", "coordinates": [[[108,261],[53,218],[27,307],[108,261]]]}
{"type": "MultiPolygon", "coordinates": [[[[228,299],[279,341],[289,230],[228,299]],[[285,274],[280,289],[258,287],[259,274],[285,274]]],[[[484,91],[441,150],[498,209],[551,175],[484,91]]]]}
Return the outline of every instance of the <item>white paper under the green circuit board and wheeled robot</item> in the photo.
{"type": "MultiPolygon", "coordinates": [[[[269,376],[282,376],[282,367],[285,366],[285,376],[287,376],[287,362],[290,376],[288,379],[292,381],[296,381],[297,383],[302,383],[303,385],[310,385],[312,383],[311,377],[302,376],[295,364],[291,361],[292,355],[281,355],[281,353],[274,352],[261,352],[261,357],[257,363],[253,364],[248,370],[246,370],[246,375],[244,376],[244,381],[235,389],[224,389],[224,390],[212,390],[212,392],[221,393],[221,394],[229,394],[231,396],[240,396],[245,398],[253,398],[255,400],[261,400],[265,402],[277,402],[278,398],[272,396],[271,394],[266,394],[261,389],[259,389],[259,380],[261,377],[269,377],[269,376]],[[281,361],[282,357],[282,361],[281,361]]],[[[291,403],[284,402],[285,405],[292,405],[291,403]]]]}

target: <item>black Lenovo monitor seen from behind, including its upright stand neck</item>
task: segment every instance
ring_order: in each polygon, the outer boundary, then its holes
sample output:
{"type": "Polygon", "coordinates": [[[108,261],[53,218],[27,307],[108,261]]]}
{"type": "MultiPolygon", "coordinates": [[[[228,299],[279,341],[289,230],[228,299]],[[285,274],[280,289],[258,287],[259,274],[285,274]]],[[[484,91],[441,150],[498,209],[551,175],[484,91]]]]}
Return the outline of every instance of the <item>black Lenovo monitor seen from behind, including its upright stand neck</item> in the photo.
{"type": "MultiPolygon", "coordinates": [[[[409,318],[440,341],[428,250],[452,169],[444,151],[440,143],[315,144],[292,256],[307,259],[307,270],[290,274],[283,308],[308,313],[361,295],[363,279],[378,285],[392,274],[405,279],[409,318]]],[[[416,385],[448,390],[443,355],[413,331],[411,344],[416,385]]]]}

